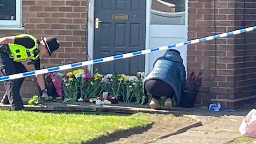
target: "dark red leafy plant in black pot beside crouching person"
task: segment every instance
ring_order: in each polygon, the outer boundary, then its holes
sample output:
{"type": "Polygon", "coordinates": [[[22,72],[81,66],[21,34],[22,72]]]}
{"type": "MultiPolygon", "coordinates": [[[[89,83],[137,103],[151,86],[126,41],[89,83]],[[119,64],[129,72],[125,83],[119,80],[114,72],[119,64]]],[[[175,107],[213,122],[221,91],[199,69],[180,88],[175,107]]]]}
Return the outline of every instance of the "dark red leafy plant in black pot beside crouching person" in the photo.
{"type": "Polygon", "coordinates": [[[193,108],[198,91],[202,85],[202,71],[195,74],[194,70],[190,73],[190,77],[186,80],[185,90],[181,96],[181,107],[193,108]]]}

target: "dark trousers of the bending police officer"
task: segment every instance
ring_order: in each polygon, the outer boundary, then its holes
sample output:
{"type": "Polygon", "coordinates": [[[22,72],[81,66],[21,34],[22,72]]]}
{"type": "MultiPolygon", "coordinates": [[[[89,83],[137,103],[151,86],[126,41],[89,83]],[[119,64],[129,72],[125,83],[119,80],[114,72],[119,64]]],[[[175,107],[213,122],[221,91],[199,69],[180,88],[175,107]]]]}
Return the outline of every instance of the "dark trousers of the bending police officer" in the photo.
{"type": "MultiPolygon", "coordinates": [[[[0,76],[26,72],[26,67],[21,62],[13,62],[4,52],[0,51],[0,76]]],[[[22,110],[23,102],[19,94],[24,78],[4,81],[5,96],[11,105],[12,110],[22,110]]]]}

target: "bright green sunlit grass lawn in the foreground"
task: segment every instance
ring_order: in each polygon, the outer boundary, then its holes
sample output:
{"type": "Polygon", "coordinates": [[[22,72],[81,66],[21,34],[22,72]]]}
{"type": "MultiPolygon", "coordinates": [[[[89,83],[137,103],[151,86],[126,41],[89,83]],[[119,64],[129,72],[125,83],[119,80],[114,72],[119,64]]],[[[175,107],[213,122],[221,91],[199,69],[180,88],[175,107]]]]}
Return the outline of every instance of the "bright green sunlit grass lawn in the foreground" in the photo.
{"type": "MultiPolygon", "coordinates": [[[[0,143],[80,143],[107,132],[150,124],[131,116],[0,110],[0,143]]],[[[143,114],[142,114],[143,115],[143,114]]]]}

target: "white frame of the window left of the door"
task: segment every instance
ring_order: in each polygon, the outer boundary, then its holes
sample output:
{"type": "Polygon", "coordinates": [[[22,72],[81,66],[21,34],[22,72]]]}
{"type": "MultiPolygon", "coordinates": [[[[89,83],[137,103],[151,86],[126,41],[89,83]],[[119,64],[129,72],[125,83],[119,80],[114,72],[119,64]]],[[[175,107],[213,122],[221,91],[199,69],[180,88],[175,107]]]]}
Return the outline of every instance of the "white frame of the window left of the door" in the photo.
{"type": "Polygon", "coordinates": [[[0,20],[0,30],[21,30],[22,26],[22,0],[16,0],[16,20],[0,20]]]}

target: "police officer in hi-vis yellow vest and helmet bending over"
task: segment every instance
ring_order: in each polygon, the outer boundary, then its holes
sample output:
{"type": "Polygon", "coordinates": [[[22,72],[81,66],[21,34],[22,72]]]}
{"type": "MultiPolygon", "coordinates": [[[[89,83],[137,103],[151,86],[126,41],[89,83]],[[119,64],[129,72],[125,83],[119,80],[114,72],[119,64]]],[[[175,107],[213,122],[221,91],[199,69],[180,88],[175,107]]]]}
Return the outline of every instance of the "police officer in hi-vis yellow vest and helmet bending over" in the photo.
{"type": "MultiPolygon", "coordinates": [[[[30,61],[35,70],[40,69],[40,57],[51,56],[59,48],[59,42],[54,37],[41,37],[39,41],[33,35],[19,34],[0,38],[0,76],[26,72],[21,63],[30,61]]],[[[3,104],[10,104],[12,110],[22,110],[23,103],[19,91],[24,78],[4,81],[5,94],[3,104]]],[[[42,74],[37,75],[38,85],[42,90],[42,98],[48,99],[42,74]]]]}

